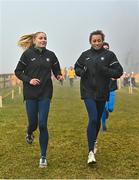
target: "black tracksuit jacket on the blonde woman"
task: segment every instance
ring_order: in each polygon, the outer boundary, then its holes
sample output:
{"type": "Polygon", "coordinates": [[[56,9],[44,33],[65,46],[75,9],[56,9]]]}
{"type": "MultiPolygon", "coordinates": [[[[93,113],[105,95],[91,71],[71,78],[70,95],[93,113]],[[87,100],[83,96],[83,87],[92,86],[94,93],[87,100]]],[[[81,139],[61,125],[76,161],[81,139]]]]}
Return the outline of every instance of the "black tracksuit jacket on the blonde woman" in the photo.
{"type": "Polygon", "coordinates": [[[24,99],[52,98],[53,85],[51,70],[55,77],[61,75],[60,65],[56,55],[46,48],[42,52],[31,47],[21,56],[15,69],[15,75],[23,81],[24,99]],[[32,78],[40,80],[37,86],[30,85],[32,78]]]}

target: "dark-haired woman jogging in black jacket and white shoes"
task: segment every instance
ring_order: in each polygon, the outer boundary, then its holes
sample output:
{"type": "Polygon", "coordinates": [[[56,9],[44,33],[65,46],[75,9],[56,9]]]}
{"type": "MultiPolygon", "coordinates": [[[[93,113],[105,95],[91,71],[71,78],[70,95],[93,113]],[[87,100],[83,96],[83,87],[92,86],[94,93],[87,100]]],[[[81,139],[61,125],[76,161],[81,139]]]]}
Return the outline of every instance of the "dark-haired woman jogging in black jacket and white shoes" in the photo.
{"type": "Polygon", "coordinates": [[[103,48],[104,34],[100,30],[90,34],[91,48],[81,54],[75,63],[75,72],[81,77],[81,98],[88,112],[88,160],[96,163],[95,143],[101,125],[105,102],[109,96],[110,78],[119,78],[123,68],[112,51],[103,48]]]}

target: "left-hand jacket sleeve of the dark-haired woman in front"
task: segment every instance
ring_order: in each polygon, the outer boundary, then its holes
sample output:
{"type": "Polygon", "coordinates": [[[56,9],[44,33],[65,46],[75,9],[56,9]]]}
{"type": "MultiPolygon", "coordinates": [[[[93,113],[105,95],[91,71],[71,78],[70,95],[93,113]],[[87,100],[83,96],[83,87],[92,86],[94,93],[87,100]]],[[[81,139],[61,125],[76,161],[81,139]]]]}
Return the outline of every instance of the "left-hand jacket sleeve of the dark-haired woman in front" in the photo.
{"type": "Polygon", "coordinates": [[[75,74],[79,77],[83,77],[85,75],[85,72],[87,71],[87,67],[84,64],[84,59],[85,57],[82,53],[74,65],[75,74]]]}

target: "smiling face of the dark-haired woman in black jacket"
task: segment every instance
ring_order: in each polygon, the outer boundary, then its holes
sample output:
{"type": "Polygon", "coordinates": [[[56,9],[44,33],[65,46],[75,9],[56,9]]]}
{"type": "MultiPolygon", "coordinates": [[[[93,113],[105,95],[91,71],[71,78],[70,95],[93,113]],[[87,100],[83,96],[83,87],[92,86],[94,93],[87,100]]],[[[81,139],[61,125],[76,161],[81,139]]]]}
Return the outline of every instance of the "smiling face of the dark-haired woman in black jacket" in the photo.
{"type": "Polygon", "coordinates": [[[103,46],[102,36],[100,34],[92,35],[90,44],[95,50],[101,49],[103,46]]]}

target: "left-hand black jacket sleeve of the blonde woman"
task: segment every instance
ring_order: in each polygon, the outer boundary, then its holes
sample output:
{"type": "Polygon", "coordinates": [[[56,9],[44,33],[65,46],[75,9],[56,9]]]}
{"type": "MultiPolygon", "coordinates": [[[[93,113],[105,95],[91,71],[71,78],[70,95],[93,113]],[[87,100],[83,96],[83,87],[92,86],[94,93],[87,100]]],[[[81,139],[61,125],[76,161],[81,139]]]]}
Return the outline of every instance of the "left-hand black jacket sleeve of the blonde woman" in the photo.
{"type": "Polygon", "coordinates": [[[18,64],[17,64],[17,66],[16,66],[16,68],[15,68],[15,70],[14,70],[14,72],[15,72],[15,75],[20,80],[22,80],[23,82],[29,83],[31,78],[25,74],[25,70],[27,68],[27,65],[28,65],[27,58],[26,58],[25,54],[23,53],[18,64]]]}

